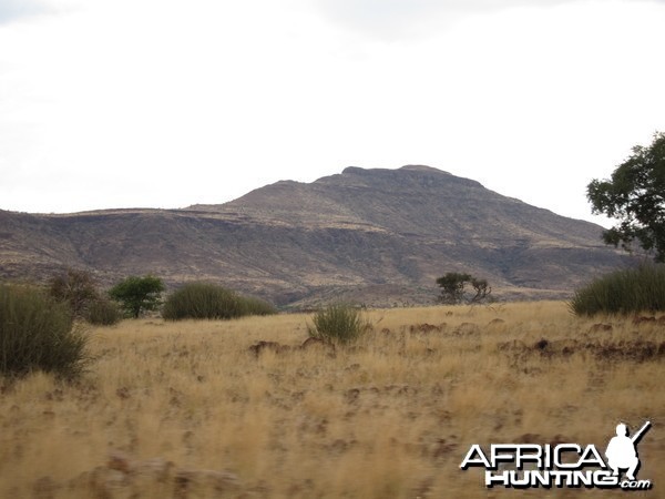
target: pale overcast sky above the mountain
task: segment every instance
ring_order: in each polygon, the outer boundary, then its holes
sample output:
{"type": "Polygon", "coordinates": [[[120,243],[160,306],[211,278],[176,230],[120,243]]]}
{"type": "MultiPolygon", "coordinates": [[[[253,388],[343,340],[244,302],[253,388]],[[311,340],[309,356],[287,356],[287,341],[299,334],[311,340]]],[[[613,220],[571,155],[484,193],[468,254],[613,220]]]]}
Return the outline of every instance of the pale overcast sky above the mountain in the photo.
{"type": "Polygon", "coordinates": [[[663,0],[0,0],[0,208],[427,164],[593,220],[665,131],[664,48],[663,0]]]}

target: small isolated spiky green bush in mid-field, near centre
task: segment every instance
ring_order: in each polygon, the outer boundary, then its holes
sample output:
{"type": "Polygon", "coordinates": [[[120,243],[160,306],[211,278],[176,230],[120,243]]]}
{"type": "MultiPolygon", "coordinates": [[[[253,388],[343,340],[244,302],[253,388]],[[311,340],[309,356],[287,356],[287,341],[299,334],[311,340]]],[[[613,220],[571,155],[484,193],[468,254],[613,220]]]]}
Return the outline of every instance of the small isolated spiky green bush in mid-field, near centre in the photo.
{"type": "Polygon", "coordinates": [[[351,305],[338,303],[319,309],[308,326],[309,336],[336,344],[357,340],[369,327],[360,310],[351,305]]]}

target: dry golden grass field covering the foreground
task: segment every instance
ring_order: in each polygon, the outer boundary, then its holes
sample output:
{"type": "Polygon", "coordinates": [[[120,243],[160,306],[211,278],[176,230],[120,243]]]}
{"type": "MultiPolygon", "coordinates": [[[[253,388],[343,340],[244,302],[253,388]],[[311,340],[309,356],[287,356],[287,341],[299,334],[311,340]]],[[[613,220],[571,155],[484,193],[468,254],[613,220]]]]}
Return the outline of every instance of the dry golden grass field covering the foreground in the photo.
{"type": "Polygon", "coordinates": [[[647,419],[654,488],[630,495],[665,497],[665,325],[560,302],[367,316],[334,356],[249,350],[300,345],[308,315],[91,327],[81,381],[0,380],[0,497],[607,497],[627,492],[487,489],[459,467],[471,444],[604,451],[647,419]]]}

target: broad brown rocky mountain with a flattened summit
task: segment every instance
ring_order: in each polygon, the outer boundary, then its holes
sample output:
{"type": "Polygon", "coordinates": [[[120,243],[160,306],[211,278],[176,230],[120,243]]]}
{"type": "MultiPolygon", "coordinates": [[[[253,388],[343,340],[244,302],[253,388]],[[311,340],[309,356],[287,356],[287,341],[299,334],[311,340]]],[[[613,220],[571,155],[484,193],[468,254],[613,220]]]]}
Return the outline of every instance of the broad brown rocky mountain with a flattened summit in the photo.
{"type": "Polygon", "coordinates": [[[40,281],[71,266],[110,284],[151,272],[279,305],[344,296],[386,306],[431,303],[437,277],[464,271],[497,297],[555,297],[620,264],[601,232],[432,167],[351,166],[219,205],[0,212],[0,277],[40,281]]]}

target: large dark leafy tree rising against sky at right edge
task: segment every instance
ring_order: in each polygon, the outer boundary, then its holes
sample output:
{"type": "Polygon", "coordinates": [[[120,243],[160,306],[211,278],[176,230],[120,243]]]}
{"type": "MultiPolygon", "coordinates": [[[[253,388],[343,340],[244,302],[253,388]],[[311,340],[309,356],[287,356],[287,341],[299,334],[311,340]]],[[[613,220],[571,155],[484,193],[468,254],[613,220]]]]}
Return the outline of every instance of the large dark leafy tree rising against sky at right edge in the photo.
{"type": "Polygon", "coordinates": [[[603,232],[606,244],[631,251],[637,242],[656,262],[665,262],[665,133],[656,132],[648,147],[633,147],[611,179],[587,185],[586,196],[592,213],[621,221],[603,232]]]}

